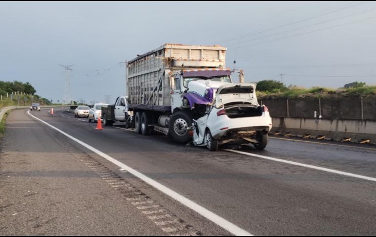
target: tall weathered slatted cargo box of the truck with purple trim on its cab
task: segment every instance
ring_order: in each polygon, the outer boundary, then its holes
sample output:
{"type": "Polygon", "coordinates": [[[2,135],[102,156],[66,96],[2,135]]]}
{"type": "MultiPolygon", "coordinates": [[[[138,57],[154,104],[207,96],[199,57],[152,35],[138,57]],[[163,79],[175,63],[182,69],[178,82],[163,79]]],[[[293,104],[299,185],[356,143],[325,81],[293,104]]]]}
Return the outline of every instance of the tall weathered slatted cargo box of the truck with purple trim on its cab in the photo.
{"type": "Polygon", "coordinates": [[[164,44],[127,63],[130,108],[168,111],[171,109],[169,73],[225,67],[226,47],[164,44]]]}

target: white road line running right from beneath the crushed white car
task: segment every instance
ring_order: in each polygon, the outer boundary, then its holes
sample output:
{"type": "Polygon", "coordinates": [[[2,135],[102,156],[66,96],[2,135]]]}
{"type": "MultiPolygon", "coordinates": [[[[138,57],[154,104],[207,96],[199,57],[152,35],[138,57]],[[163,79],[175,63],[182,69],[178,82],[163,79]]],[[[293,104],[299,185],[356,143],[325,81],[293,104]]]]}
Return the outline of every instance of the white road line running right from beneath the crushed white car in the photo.
{"type": "Polygon", "coordinates": [[[248,153],[248,152],[244,152],[244,151],[235,151],[235,150],[230,150],[230,149],[224,149],[224,151],[230,151],[230,152],[239,153],[239,154],[243,154],[243,155],[254,156],[254,157],[258,157],[258,158],[262,158],[262,159],[267,159],[267,160],[272,160],[272,161],[278,161],[278,162],[287,163],[287,164],[291,164],[291,165],[302,166],[302,167],[306,167],[306,168],[310,168],[310,169],[314,169],[314,170],[319,170],[319,171],[331,172],[331,173],[346,175],[346,176],[350,176],[350,177],[355,177],[355,178],[361,178],[361,179],[376,181],[376,178],[373,178],[373,177],[368,177],[368,176],[363,176],[363,175],[359,175],[359,174],[355,174],[355,173],[349,173],[349,172],[343,172],[343,171],[336,171],[336,170],[332,170],[332,169],[328,169],[328,168],[323,168],[323,167],[319,167],[319,166],[307,165],[307,164],[303,164],[303,163],[298,163],[298,162],[293,162],[293,161],[288,161],[288,160],[273,158],[273,157],[269,157],[269,156],[252,154],[252,153],[248,153]]]}

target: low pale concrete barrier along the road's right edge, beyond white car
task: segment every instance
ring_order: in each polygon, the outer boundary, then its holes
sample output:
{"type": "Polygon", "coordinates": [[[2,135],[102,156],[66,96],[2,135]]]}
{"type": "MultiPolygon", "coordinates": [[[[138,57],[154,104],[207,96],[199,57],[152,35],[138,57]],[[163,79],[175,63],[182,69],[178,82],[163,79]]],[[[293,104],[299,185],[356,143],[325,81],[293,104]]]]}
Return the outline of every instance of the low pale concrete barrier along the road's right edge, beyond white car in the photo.
{"type": "Polygon", "coordinates": [[[376,120],[272,117],[271,133],[376,144],[376,120]]]}

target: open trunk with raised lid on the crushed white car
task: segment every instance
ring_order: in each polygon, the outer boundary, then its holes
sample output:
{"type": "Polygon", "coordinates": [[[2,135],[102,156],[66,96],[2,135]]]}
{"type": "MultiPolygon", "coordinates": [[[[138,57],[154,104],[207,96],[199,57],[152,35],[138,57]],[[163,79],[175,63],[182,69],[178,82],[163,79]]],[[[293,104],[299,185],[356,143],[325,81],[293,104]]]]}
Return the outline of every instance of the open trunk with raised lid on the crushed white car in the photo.
{"type": "Polygon", "coordinates": [[[220,86],[217,90],[215,107],[224,108],[229,118],[261,116],[255,94],[256,84],[242,83],[220,86]]]}

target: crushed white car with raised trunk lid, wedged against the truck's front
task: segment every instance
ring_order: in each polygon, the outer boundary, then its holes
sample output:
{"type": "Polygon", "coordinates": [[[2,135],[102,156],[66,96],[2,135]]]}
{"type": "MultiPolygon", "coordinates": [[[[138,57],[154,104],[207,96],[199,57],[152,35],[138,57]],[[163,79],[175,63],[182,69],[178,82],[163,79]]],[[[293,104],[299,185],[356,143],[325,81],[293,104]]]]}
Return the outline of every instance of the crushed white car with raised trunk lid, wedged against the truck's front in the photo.
{"type": "Polygon", "coordinates": [[[266,106],[260,106],[256,84],[224,84],[215,94],[213,106],[192,124],[193,144],[207,146],[210,151],[224,144],[267,146],[272,118],[266,106]]]}

